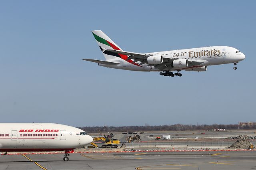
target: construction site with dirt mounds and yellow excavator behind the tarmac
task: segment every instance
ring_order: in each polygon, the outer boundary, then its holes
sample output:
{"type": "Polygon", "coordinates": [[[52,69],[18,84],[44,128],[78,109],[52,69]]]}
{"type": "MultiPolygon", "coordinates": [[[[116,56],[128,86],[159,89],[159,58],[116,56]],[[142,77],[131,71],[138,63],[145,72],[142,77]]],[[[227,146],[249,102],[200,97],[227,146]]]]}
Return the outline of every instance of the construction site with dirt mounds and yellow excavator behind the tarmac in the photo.
{"type": "Polygon", "coordinates": [[[91,145],[82,151],[106,150],[198,150],[198,149],[254,149],[253,130],[175,131],[175,132],[115,132],[91,134],[91,145]],[[110,148],[110,149],[108,149],[110,148]]]}

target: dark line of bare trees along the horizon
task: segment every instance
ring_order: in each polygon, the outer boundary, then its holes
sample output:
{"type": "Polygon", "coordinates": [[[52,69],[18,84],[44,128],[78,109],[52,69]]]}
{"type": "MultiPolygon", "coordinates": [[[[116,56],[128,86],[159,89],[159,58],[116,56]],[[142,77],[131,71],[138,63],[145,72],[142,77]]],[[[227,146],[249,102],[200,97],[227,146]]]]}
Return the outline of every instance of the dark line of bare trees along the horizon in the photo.
{"type": "Polygon", "coordinates": [[[238,125],[161,125],[161,126],[123,126],[123,127],[78,127],[88,133],[95,132],[144,132],[144,131],[184,131],[184,130],[213,130],[216,128],[222,129],[238,129],[238,125]]]}

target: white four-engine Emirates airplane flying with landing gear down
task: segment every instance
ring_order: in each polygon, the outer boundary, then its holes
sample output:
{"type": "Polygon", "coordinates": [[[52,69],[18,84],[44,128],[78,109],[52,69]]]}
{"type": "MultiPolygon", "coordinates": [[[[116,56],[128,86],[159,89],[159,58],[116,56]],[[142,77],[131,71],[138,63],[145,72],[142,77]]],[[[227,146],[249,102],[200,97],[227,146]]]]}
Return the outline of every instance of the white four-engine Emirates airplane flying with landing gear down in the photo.
{"type": "Polygon", "coordinates": [[[132,71],[160,71],[160,75],[182,76],[181,70],[206,71],[208,65],[234,63],[245,59],[238,49],[228,46],[199,47],[160,51],[151,53],[134,53],[123,51],[101,30],[92,31],[96,42],[106,58],[106,61],[83,59],[98,63],[103,67],[132,71]],[[173,73],[175,71],[176,73],[173,73]]]}

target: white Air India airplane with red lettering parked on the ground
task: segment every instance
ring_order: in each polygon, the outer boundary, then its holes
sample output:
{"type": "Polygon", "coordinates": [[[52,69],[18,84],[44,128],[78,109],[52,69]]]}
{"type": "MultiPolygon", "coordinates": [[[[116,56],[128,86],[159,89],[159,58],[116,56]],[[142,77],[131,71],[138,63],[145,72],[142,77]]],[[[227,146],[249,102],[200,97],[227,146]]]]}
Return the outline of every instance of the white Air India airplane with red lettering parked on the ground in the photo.
{"type": "Polygon", "coordinates": [[[55,123],[0,123],[0,152],[69,152],[91,143],[93,138],[79,128],[55,123]]]}

